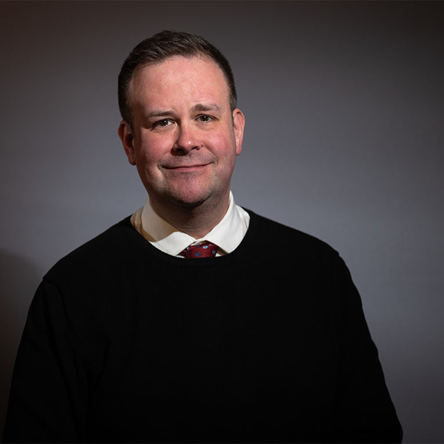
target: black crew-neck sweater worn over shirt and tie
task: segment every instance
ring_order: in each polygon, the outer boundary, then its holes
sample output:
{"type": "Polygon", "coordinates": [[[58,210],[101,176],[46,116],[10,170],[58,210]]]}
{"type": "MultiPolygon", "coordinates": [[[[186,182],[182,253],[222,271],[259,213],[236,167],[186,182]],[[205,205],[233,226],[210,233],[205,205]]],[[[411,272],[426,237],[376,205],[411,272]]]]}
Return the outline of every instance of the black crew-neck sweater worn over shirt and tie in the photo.
{"type": "Polygon", "coordinates": [[[126,218],[61,259],[28,314],[3,441],[400,442],[342,259],[250,215],[220,258],[166,255],[126,218]]]}

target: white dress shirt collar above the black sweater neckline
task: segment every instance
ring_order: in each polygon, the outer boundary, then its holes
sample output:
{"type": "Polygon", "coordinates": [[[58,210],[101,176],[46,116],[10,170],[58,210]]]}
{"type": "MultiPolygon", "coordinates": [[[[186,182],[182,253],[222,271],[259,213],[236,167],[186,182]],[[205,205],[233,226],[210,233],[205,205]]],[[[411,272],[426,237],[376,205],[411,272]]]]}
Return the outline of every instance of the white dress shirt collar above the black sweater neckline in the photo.
{"type": "Polygon", "coordinates": [[[158,216],[148,196],[145,206],[131,216],[131,223],[151,245],[169,255],[183,258],[179,255],[185,248],[209,241],[219,247],[218,257],[231,253],[239,246],[247,232],[250,215],[234,203],[230,191],[228,210],[222,221],[204,237],[195,239],[158,216]]]}

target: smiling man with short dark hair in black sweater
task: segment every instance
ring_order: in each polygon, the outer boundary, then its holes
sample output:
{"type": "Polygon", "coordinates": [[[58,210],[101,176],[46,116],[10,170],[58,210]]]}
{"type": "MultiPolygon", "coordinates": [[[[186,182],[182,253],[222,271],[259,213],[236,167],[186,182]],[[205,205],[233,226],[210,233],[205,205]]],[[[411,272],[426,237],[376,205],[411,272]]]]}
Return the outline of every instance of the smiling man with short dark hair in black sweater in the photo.
{"type": "Polygon", "coordinates": [[[4,441],[401,442],[342,259],[234,203],[245,118],[222,54],[144,40],[119,105],[147,203],[43,278],[4,441]]]}

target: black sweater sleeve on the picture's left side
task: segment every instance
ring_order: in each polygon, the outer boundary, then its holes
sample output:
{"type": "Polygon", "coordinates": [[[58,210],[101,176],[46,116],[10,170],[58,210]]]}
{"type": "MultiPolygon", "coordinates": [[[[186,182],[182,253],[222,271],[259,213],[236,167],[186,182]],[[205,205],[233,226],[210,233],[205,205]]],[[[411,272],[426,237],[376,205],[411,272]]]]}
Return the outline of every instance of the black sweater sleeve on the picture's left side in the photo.
{"type": "Polygon", "coordinates": [[[3,442],[83,442],[86,406],[86,377],[63,297],[44,280],[18,349],[3,442]]]}

